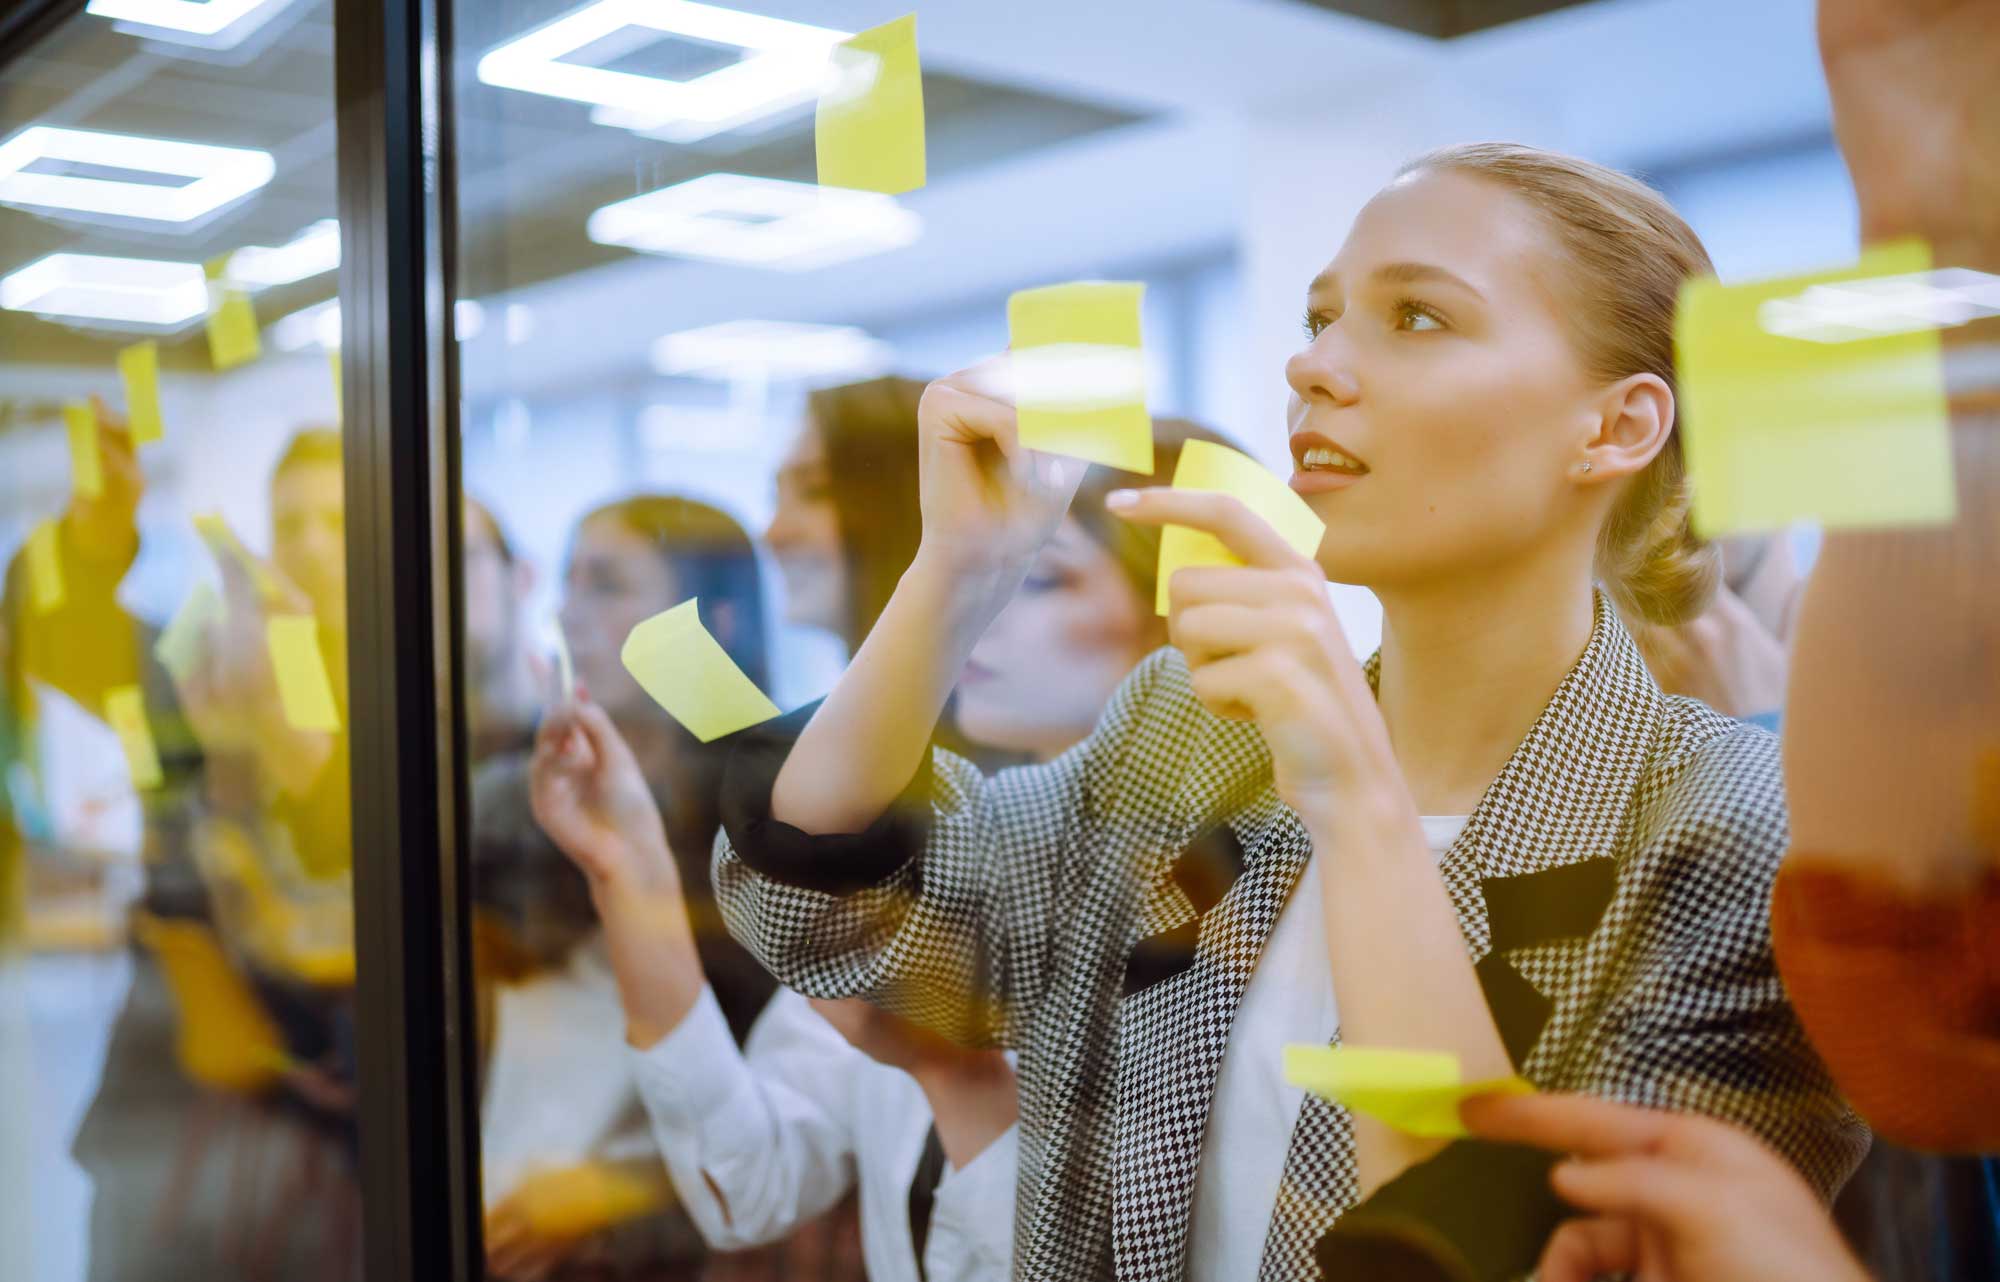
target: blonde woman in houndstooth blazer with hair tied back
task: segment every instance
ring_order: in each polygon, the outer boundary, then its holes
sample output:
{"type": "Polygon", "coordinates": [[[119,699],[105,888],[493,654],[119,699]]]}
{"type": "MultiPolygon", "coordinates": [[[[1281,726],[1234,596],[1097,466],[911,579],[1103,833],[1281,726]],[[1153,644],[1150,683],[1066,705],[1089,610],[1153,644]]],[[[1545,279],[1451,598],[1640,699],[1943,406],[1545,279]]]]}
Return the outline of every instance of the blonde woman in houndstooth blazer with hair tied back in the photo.
{"type": "Polygon", "coordinates": [[[1644,186],[1516,146],[1416,160],[1306,288],[1292,486],[1128,492],[1246,564],[1182,570],[1172,648],[1054,762],[928,750],[1076,464],[992,380],[934,384],[924,538],[826,702],[746,734],[716,890],[788,984],[1020,1052],[1016,1270],[1462,1276],[1532,1266],[1546,1158],[1414,1140],[1282,1080],[1286,1042],[1454,1052],[1738,1120],[1822,1196],[1866,1132],[1784,1002],[1776,740],[1646,674],[1606,594],[1692,616],[1672,308],[1708,270],[1644,186]],[[1350,656],[1326,580],[1370,586],[1350,656]]]}

